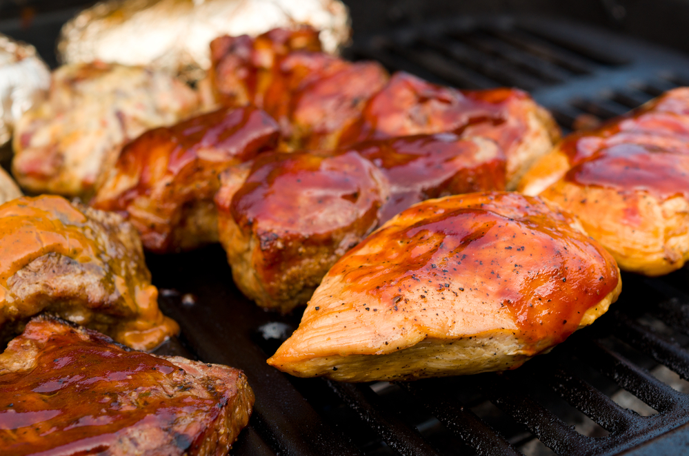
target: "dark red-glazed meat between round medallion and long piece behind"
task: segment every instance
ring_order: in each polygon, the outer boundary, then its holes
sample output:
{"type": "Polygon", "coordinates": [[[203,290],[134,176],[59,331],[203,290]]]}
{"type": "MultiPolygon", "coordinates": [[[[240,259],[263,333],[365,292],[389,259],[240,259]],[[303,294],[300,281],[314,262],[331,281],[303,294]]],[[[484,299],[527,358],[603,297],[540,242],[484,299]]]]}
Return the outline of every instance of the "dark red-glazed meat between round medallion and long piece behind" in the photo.
{"type": "Polygon", "coordinates": [[[451,133],[403,136],[352,146],[371,160],[391,184],[381,224],[415,203],[439,196],[503,190],[506,160],[497,146],[451,133]]]}

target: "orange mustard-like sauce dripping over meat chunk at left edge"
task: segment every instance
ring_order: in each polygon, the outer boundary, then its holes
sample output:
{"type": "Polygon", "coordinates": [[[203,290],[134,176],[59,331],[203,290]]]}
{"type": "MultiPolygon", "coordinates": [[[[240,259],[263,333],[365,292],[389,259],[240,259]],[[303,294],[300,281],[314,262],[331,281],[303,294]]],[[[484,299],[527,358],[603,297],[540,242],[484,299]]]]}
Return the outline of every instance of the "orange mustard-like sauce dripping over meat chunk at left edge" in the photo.
{"type": "MultiPolygon", "coordinates": [[[[105,230],[105,227],[100,227],[105,230]]],[[[158,309],[156,287],[137,252],[123,245],[108,245],[104,232],[94,231],[87,216],[61,196],[18,198],[0,206],[0,326],[21,321],[46,309],[79,315],[83,324],[108,329],[119,342],[137,348],[153,349],[179,327],[158,309]],[[77,309],[66,304],[69,296],[43,296],[19,299],[10,293],[8,280],[33,260],[46,255],[61,255],[101,276],[103,288],[117,296],[115,302],[82,302],[77,309]],[[123,267],[123,265],[126,265],[123,267]]],[[[54,273],[54,271],[53,271],[54,273]]],[[[46,287],[58,277],[42,279],[46,287]]],[[[75,283],[89,293],[88,284],[75,283]]],[[[50,292],[46,292],[50,296],[50,292]]],[[[77,298],[81,302],[84,298],[77,298]]]]}

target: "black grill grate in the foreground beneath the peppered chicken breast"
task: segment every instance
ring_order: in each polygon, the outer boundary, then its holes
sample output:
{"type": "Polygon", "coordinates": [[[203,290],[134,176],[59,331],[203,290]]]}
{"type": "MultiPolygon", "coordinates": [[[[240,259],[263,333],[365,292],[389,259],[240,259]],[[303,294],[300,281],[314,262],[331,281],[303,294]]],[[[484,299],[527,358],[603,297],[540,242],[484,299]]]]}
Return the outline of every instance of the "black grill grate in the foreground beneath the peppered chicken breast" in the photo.
{"type": "Polygon", "coordinates": [[[688,439],[689,300],[675,287],[686,269],[623,276],[610,313],[516,371],[340,384],[264,363],[299,315],[239,298],[221,249],[148,260],[159,287],[184,284],[196,296],[189,305],[163,293],[163,310],[183,331],[164,349],[241,366],[250,377],[258,399],[236,455],[615,455],[676,429],[663,442],[688,439]]]}

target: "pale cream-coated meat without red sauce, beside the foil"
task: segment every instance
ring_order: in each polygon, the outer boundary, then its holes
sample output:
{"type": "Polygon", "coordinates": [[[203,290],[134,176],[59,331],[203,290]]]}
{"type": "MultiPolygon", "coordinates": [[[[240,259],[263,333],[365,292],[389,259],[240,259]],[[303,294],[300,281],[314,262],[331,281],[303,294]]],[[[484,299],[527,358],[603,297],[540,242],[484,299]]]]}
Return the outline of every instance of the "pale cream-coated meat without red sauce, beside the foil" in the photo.
{"type": "Polygon", "coordinates": [[[34,193],[86,198],[125,143],[198,107],[193,90],[161,72],[64,65],[52,74],[48,99],[17,123],[12,172],[34,193]]]}

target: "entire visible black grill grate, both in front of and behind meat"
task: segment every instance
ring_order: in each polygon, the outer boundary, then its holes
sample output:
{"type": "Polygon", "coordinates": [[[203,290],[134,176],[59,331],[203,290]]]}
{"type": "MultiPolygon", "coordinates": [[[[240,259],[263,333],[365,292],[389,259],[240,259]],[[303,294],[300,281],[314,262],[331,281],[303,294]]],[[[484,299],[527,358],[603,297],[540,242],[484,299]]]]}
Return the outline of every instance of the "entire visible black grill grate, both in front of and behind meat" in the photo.
{"type": "MultiPolygon", "coordinates": [[[[566,131],[689,85],[681,54],[546,19],[428,23],[357,37],[348,53],[461,88],[520,87],[566,131]]],[[[243,298],[219,247],[148,256],[148,265],[163,311],[182,328],[159,353],[230,364],[250,379],[257,402],[234,455],[689,451],[687,269],[656,279],[623,275],[608,314],[516,371],[341,384],[290,377],[265,363],[301,315],[268,313],[243,298]]]]}

